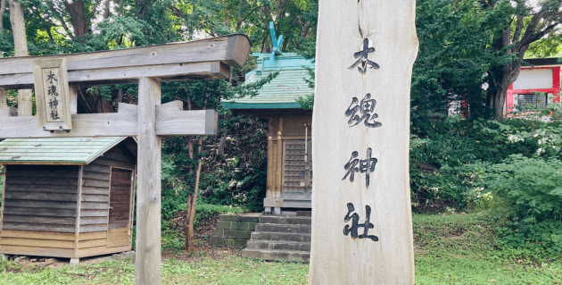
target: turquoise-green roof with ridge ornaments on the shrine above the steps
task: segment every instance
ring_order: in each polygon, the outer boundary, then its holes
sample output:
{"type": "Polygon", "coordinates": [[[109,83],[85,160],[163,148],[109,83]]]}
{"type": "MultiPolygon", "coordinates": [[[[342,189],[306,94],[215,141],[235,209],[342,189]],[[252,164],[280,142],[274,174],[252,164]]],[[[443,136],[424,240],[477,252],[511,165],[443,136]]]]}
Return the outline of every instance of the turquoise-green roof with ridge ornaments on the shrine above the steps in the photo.
{"type": "Polygon", "coordinates": [[[227,109],[285,109],[301,108],[296,99],[314,94],[304,79],[310,79],[305,67],[314,68],[314,63],[296,54],[283,54],[276,57],[276,63],[269,66],[270,54],[258,55],[258,69],[246,74],[246,84],[256,82],[270,73],[279,71],[274,80],[264,85],[258,96],[224,100],[221,104],[227,109]]]}

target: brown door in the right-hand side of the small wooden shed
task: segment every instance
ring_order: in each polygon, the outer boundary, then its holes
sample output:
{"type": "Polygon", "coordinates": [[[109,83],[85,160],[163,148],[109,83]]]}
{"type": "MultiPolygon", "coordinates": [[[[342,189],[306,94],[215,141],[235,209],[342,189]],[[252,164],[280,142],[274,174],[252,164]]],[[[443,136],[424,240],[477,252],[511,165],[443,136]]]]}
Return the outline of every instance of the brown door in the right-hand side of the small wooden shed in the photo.
{"type": "Polygon", "coordinates": [[[112,167],[107,247],[123,247],[131,242],[133,170],[112,167]]]}

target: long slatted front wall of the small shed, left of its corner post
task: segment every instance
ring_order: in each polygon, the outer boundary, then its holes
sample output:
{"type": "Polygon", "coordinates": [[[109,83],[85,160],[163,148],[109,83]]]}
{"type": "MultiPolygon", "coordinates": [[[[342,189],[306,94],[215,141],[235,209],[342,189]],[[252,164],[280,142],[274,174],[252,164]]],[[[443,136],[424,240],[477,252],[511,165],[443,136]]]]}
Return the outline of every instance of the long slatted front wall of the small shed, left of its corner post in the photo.
{"type": "Polygon", "coordinates": [[[6,165],[0,252],[71,257],[79,166],[6,165]]]}

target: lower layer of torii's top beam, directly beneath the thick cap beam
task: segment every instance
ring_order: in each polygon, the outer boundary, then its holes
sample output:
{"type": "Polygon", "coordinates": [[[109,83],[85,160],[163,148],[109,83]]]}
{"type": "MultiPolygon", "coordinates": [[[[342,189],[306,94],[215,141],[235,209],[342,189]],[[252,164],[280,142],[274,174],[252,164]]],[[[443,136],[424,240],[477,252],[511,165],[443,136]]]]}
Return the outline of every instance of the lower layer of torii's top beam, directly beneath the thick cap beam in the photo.
{"type": "MultiPolygon", "coordinates": [[[[2,64],[2,60],[0,60],[2,64]]],[[[0,67],[1,70],[1,67],[0,67]]],[[[136,84],[143,76],[160,78],[162,81],[227,79],[230,67],[219,61],[206,63],[173,63],[140,65],[108,69],[68,71],[73,85],[136,84]]],[[[33,88],[33,73],[0,74],[0,88],[33,88]]]]}

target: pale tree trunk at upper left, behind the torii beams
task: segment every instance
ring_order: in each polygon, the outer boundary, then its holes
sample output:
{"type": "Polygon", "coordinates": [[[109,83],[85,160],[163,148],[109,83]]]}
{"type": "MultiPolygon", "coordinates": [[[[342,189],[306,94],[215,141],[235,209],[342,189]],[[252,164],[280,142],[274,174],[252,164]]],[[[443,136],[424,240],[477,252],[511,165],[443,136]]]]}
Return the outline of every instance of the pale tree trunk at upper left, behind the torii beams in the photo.
{"type": "MultiPolygon", "coordinates": [[[[10,0],[10,23],[12,24],[13,49],[15,56],[27,56],[28,39],[25,32],[25,20],[23,19],[23,5],[16,0],[10,0]]],[[[33,98],[31,89],[18,90],[18,115],[33,115],[33,98]]]]}

